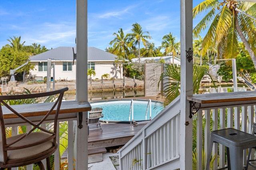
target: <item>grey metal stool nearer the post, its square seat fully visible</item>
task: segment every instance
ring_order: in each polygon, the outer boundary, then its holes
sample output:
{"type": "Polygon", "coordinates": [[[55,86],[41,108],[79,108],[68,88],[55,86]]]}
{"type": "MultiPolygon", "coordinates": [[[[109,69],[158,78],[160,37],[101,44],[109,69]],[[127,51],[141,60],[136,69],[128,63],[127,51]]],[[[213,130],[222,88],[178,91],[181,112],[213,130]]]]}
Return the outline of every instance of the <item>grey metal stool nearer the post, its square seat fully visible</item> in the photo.
{"type": "Polygon", "coordinates": [[[212,131],[210,134],[206,170],[209,170],[212,145],[214,142],[227,147],[228,170],[242,170],[243,150],[256,147],[256,136],[233,128],[212,131]]]}

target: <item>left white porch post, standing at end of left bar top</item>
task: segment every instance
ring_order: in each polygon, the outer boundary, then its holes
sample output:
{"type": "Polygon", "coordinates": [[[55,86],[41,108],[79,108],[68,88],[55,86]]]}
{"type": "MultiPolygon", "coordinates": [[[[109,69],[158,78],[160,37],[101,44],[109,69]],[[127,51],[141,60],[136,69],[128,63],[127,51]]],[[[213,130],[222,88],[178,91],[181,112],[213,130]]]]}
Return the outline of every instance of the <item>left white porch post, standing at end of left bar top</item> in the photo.
{"type": "MultiPolygon", "coordinates": [[[[76,0],[76,100],[88,101],[87,92],[87,0],[76,0]]],[[[78,128],[76,143],[76,170],[85,170],[88,167],[88,126],[87,112],[82,113],[82,128],[78,128]]]]}

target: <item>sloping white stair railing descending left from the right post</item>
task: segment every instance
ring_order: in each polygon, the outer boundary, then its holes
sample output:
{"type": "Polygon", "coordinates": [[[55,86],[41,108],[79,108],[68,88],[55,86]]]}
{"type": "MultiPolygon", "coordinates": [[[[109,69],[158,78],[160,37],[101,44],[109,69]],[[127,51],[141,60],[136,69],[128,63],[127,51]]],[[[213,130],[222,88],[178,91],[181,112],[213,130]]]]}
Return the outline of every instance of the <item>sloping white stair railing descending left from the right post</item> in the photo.
{"type": "Polygon", "coordinates": [[[120,169],[179,168],[180,98],[176,98],[119,150],[120,169]]]}

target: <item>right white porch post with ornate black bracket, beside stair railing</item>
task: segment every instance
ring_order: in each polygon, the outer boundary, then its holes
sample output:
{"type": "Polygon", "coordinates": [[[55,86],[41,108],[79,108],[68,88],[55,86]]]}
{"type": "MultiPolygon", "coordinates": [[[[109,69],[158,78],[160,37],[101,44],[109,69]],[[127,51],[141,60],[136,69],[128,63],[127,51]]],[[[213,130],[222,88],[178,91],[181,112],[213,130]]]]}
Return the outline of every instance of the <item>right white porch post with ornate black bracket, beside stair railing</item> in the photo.
{"type": "Polygon", "coordinates": [[[192,119],[187,96],[193,95],[193,60],[189,62],[186,56],[189,48],[193,50],[192,6],[193,0],[180,0],[180,170],[192,169],[192,119]]]}

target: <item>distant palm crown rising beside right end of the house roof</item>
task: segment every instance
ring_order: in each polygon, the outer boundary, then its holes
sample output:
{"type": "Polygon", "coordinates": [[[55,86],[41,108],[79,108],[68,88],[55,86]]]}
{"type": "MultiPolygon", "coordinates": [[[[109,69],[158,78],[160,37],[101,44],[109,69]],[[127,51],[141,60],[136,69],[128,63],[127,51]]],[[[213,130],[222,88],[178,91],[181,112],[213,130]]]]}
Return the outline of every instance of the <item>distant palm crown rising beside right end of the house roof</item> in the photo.
{"type": "Polygon", "coordinates": [[[128,34],[124,35],[122,28],[119,29],[118,33],[113,33],[116,37],[110,41],[110,45],[114,43],[113,54],[122,55],[128,59],[129,54],[129,37],[128,34]]]}

